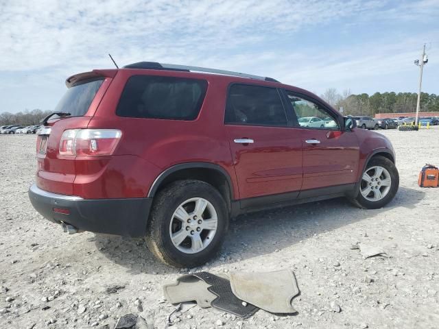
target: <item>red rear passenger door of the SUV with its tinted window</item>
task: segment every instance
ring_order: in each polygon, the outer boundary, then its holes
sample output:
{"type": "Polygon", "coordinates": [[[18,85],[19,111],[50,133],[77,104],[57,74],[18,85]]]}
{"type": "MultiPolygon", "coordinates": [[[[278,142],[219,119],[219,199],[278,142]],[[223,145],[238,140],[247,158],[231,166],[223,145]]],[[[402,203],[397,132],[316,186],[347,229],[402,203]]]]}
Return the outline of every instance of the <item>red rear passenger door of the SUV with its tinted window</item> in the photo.
{"type": "MultiPolygon", "coordinates": [[[[241,199],[297,197],[302,185],[302,142],[289,127],[277,88],[232,84],[225,116],[241,199]],[[280,194],[283,193],[283,194],[280,194]]],[[[254,206],[241,200],[241,206],[254,206]]]]}

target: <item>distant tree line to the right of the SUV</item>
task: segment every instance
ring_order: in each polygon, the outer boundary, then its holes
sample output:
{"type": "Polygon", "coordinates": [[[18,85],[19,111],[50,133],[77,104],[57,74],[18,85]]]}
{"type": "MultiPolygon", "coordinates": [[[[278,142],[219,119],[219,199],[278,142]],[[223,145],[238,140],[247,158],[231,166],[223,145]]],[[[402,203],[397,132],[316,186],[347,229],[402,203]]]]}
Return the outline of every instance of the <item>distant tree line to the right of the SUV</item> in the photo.
{"type": "MultiPolygon", "coordinates": [[[[323,95],[325,101],[344,114],[366,115],[374,117],[376,113],[408,113],[416,112],[417,93],[366,93],[353,95],[351,90],[344,90],[341,94],[337,89],[329,88],[323,95]]],[[[421,93],[420,112],[439,112],[439,95],[421,93]]]]}

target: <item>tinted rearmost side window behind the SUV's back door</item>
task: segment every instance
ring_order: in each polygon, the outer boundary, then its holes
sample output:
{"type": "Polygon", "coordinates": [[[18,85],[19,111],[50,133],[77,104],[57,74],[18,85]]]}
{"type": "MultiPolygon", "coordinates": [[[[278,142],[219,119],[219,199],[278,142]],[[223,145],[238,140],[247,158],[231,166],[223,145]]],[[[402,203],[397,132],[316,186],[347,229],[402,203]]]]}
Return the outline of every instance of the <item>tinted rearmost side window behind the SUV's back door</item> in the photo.
{"type": "Polygon", "coordinates": [[[194,120],[198,117],[207,82],[182,77],[133,75],[123,89],[119,117],[194,120]]]}

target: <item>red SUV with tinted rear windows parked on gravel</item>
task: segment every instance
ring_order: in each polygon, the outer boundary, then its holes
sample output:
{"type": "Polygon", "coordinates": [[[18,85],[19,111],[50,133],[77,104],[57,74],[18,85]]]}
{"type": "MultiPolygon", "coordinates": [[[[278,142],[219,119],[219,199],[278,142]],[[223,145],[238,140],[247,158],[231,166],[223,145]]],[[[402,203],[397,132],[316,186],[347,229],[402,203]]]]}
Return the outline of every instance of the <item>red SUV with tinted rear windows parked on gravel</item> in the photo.
{"type": "Polygon", "coordinates": [[[243,212],[341,196],[380,208],[398,191],[388,138],[268,77],[139,62],[66,84],[29,188],[65,232],[145,237],[193,267],[243,212]]]}

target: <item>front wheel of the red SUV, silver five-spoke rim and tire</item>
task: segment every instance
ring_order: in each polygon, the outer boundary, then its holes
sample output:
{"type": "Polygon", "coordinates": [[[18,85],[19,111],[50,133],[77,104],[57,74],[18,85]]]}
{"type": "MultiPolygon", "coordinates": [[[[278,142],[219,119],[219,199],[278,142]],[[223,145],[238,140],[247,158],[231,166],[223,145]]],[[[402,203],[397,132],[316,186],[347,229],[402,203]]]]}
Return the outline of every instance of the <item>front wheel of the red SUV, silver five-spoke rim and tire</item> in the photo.
{"type": "Polygon", "coordinates": [[[357,193],[357,197],[351,199],[351,202],[353,202],[355,206],[364,209],[382,208],[390,201],[392,201],[392,199],[396,195],[396,192],[398,192],[398,188],[399,173],[398,169],[396,169],[395,164],[391,160],[383,156],[374,156],[366,165],[366,170],[361,173],[361,180],[359,182],[359,191],[357,193]],[[374,168],[383,169],[378,181],[376,178],[373,178],[373,174],[377,174],[377,171],[374,168]],[[365,173],[369,176],[369,178],[372,178],[372,182],[364,180],[365,173]],[[389,178],[390,185],[385,185],[388,184],[389,178]],[[371,187],[372,189],[370,189],[368,195],[365,196],[365,194],[369,190],[369,187],[371,187]],[[377,191],[379,191],[382,198],[372,200],[377,197],[377,191]]]}

